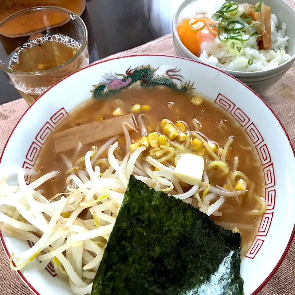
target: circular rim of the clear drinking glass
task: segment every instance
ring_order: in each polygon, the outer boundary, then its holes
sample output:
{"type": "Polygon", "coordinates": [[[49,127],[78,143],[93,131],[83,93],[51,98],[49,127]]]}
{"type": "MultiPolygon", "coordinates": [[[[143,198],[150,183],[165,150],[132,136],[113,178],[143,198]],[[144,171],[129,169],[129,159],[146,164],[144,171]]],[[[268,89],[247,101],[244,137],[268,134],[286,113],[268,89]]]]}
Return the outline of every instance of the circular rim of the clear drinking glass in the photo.
{"type": "MultiPolygon", "coordinates": [[[[82,20],[82,18],[75,14],[74,12],[72,12],[71,10],[68,10],[66,8],[63,7],[59,7],[59,6],[50,6],[50,5],[45,5],[45,6],[35,6],[35,7],[29,7],[23,10],[19,10],[17,12],[15,12],[14,14],[9,15],[8,17],[4,18],[2,20],[2,22],[0,22],[0,26],[2,26],[5,22],[7,22],[7,20],[9,20],[10,18],[14,17],[17,14],[29,11],[29,10],[42,10],[44,8],[52,8],[52,9],[56,9],[56,10],[63,10],[64,12],[67,12],[68,14],[72,14],[75,16],[75,20],[77,19],[78,22],[80,23],[84,33],[85,33],[85,37],[83,40],[83,43],[81,44],[81,47],[79,48],[78,52],[71,57],[70,59],[68,59],[67,61],[65,61],[64,63],[62,63],[61,65],[58,65],[54,68],[51,69],[47,69],[47,70],[41,70],[41,71],[35,71],[35,72],[21,72],[21,71],[16,71],[16,70],[12,70],[9,68],[4,67],[3,65],[0,64],[0,69],[2,69],[5,73],[9,73],[9,74],[14,74],[14,75],[18,75],[18,76],[37,76],[37,75],[44,75],[44,74],[48,74],[51,73],[55,70],[59,70],[62,69],[63,67],[69,65],[71,62],[75,61],[77,59],[77,57],[79,57],[81,55],[81,53],[84,51],[84,49],[87,46],[88,43],[88,30],[87,27],[85,25],[85,22],[82,20]]],[[[72,19],[72,18],[71,18],[72,19]]]]}

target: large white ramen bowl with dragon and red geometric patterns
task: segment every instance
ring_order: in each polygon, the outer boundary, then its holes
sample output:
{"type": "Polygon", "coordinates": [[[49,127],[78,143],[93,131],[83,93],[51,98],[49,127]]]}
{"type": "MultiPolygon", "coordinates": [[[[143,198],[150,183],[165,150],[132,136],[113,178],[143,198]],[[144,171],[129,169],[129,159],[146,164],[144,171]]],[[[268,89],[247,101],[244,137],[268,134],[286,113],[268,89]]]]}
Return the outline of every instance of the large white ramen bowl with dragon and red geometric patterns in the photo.
{"type": "MultiPolygon", "coordinates": [[[[177,74],[181,76],[182,82],[173,80],[178,87],[185,81],[194,83],[198,92],[209,97],[217,107],[223,108],[237,120],[258,150],[265,174],[268,208],[241,265],[245,295],[256,294],[281,264],[294,236],[294,151],[272,110],[250,88],[225,72],[197,61],[168,56],[119,57],[90,65],[58,82],[28,108],[5,145],[0,169],[6,166],[33,168],[52,130],[75,107],[91,99],[93,85],[99,84],[105,73],[124,74],[126,70],[142,65],[159,68],[154,77],[169,73],[169,69],[179,70],[177,74]],[[214,87],[211,87],[213,79],[214,87]]],[[[117,76],[114,85],[120,84],[120,77],[117,76]]],[[[12,238],[4,231],[1,239],[8,256],[12,252],[17,255],[29,248],[27,242],[12,238]]],[[[18,271],[33,293],[72,294],[66,282],[54,277],[52,269],[39,272],[36,269],[38,264],[35,259],[25,269],[18,271]]]]}

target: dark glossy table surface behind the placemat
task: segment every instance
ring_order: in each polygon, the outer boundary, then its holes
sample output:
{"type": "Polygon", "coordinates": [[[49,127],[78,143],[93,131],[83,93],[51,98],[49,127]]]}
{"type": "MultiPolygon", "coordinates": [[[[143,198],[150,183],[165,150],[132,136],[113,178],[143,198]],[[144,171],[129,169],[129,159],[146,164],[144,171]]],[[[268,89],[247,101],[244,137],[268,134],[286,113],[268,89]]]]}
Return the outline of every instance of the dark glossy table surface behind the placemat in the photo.
{"type": "MultiPolygon", "coordinates": [[[[26,0],[1,1],[22,1],[23,8],[26,8],[26,0]]],[[[81,18],[89,32],[90,62],[171,33],[173,14],[183,1],[86,0],[81,18]]],[[[58,0],[40,0],[40,3],[45,2],[57,3],[58,0]]],[[[5,9],[5,6],[0,5],[0,12],[2,9],[5,9]]],[[[2,71],[0,89],[0,104],[21,97],[2,71]]]]}

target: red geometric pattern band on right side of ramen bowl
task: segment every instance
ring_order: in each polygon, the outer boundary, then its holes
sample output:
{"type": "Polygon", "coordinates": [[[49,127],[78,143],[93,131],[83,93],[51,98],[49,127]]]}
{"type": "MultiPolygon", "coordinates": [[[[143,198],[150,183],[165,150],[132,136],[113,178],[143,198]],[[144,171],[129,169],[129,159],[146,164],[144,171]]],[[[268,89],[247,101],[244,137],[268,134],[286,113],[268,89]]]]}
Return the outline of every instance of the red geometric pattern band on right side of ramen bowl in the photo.
{"type": "Polygon", "coordinates": [[[251,122],[250,118],[236,105],[221,93],[215,99],[215,103],[221,108],[225,109],[231,116],[233,116],[237,122],[246,130],[250,140],[253,142],[258,152],[265,178],[265,200],[267,203],[267,213],[262,215],[260,225],[258,227],[257,235],[250,246],[247,254],[248,258],[254,259],[264,242],[264,237],[269,232],[271,222],[273,219],[273,210],[275,206],[276,190],[275,190],[275,175],[273,169],[273,163],[266,143],[263,140],[259,130],[255,126],[254,122],[251,122]]]}

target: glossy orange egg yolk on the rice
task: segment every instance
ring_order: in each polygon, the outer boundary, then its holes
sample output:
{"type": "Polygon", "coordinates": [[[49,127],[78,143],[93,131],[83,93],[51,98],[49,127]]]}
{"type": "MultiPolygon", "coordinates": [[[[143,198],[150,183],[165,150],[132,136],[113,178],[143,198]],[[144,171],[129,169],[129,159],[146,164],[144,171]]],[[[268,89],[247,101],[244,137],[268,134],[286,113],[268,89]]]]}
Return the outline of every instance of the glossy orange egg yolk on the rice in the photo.
{"type": "Polygon", "coordinates": [[[200,56],[202,43],[216,39],[217,29],[210,26],[213,24],[206,17],[184,19],[177,27],[181,42],[191,53],[200,56]]]}

